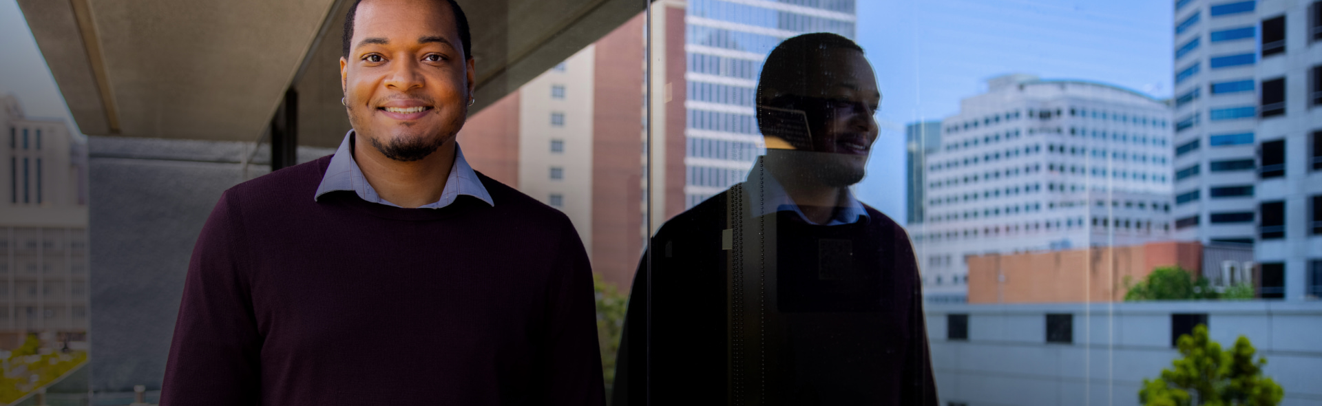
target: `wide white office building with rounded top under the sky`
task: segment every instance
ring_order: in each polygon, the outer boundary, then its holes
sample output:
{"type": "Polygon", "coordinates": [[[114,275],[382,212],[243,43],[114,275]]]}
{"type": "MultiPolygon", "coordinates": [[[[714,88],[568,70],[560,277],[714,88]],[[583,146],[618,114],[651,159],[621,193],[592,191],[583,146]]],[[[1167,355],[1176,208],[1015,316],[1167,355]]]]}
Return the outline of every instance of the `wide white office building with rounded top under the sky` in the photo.
{"type": "Polygon", "coordinates": [[[1169,107],[1103,83],[1010,74],[941,122],[927,218],[910,225],[929,302],[964,302],[969,255],[1170,238],[1169,107]]]}

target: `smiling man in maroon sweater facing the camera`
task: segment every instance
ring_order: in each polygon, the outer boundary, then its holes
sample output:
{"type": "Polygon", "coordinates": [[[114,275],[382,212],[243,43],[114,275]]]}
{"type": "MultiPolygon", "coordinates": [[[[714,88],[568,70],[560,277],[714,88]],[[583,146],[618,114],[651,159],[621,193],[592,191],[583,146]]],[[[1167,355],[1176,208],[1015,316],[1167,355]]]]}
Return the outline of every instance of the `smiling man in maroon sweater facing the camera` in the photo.
{"type": "Polygon", "coordinates": [[[452,0],[354,4],[334,155],[225,192],[189,263],[161,405],[602,405],[568,218],[475,172],[452,0]]]}

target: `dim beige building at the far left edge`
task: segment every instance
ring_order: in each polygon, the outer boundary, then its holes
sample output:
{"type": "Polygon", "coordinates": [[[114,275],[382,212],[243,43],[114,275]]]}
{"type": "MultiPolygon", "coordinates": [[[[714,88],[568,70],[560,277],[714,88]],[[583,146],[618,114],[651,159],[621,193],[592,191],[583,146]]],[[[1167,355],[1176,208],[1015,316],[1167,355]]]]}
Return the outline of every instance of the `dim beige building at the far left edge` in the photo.
{"type": "Polygon", "coordinates": [[[0,349],[29,333],[86,348],[86,149],[62,120],[0,97],[0,349]]]}

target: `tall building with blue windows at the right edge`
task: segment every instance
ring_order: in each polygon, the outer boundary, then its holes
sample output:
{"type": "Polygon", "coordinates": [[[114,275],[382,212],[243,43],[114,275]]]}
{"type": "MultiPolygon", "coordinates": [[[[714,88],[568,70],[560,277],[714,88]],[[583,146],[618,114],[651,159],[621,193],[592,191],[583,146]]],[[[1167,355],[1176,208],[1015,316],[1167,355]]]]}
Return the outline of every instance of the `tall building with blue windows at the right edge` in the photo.
{"type": "Polygon", "coordinates": [[[1264,298],[1322,295],[1322,1],[1174,7],[1175,235],[1253,245],[1264,298]]]}

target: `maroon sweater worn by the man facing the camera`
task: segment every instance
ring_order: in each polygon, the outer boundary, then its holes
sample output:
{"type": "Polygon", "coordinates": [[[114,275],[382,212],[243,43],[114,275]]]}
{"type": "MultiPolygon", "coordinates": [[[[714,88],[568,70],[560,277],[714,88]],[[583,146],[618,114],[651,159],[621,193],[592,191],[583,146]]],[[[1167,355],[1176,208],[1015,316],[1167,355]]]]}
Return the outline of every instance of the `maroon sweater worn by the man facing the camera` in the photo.
{"type": "Polygon", "coordinates": [[[161,405],[603,405],[592,275],[563,213],[313,201],[330,157],[225,192],[189,262],[161,405]]]}

